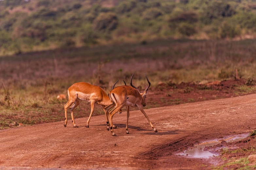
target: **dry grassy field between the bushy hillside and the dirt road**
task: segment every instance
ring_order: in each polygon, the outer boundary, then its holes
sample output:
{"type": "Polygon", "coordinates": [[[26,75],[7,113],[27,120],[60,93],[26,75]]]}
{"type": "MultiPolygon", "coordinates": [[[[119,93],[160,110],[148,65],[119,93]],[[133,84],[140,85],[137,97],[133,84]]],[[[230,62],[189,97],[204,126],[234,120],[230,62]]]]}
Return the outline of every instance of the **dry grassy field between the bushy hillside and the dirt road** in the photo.
{"type": "MultiPolygon", "coordinates": [[[[140,89],[147,86],[144,71],[152,83],[147,108],[254,93],[253,81],[249,86],[245,83],[256,75],[255,46],[256,40],[157,40],[1,57],[0,128],[9,128],[13,122],[31,125],[63,120],[67,99],[56,97],[67,94],[73,83],[88,82],[109,92],[118,79],[128,83],[133,72],[134,85],[140,89]],[[236,69],[243,79],[239,83],[234,81],[236,69]],[[204,85],[214,80],[234,82],[218,96],[219,88],[204,85]]],[[[82,102],[75,118],[88,116],[90,109],[82,102]]],[[[97,106],[94,116],[99,114],[103,111],[97,106]]]]}

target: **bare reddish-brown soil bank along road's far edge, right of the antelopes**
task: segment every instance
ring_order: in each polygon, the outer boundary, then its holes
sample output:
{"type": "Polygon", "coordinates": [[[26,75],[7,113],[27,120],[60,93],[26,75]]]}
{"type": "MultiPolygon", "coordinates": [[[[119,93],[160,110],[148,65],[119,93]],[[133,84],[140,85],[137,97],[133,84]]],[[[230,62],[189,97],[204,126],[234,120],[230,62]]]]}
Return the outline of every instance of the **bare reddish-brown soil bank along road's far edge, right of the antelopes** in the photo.
{"type": "MultiPolygon", "coordinates": [[[[157,88],[148,92],[147,105],[171,106],[191,102],[234,97],[248,92],[240,92],[237,87],[245,85],[245,79],[224,80],[219,83],[195,84],[195,83],[161,83],[157,88]]],[[[252,87],[252,86],[248,86],[252,87]]],[[[252,91],[254,92],[254,91],[252,91]]],[[[254,92],[255,93],[255,92],[254,92]]]]}

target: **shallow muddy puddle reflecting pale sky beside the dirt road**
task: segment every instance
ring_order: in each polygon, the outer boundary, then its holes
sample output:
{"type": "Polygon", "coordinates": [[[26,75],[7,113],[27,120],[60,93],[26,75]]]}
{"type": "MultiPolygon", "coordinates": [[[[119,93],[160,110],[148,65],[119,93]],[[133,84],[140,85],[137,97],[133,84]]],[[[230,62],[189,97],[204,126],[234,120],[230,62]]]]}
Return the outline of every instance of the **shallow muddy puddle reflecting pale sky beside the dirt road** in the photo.
{"type": "MultiPolygon", "coordinates": [[[[228,143],[235,142],[235,141],[242,140],[242,139],[246,138],[247,136],[248,136],[248,133],[241,134],[241,135],[235,135],[235,136],[231,136],[231,137],[224,139],[224,141],[226,141],[228,143]]],[[[218,154],[211,153],[208,150],[204,150],[204,148],[213,146],[213,145],[217,145],[217,144],[221,143],[222,140],[223,139],[216,139],[216,140],[200,143],[198,145],[195,145],[194,148],[187,149],[183,153],[179,153],[179,155],[188,156],[188,157],[192,157],[192,158],[210,158],[212,156],[218,156],[218,154]]]]}

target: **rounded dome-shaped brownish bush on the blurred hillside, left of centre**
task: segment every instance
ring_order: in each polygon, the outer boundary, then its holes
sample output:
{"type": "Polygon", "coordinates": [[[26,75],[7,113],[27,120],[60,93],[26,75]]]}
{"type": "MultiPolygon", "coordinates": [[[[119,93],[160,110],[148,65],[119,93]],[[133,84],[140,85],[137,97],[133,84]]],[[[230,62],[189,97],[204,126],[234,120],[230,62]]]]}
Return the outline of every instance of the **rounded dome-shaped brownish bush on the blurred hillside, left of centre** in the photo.
{"type": "Polygon", "coordinates": [[[94,20],[93,28],[96,31],[112,31],[117,27],[117,17],[114,13],[100,13],[94,20]]]}

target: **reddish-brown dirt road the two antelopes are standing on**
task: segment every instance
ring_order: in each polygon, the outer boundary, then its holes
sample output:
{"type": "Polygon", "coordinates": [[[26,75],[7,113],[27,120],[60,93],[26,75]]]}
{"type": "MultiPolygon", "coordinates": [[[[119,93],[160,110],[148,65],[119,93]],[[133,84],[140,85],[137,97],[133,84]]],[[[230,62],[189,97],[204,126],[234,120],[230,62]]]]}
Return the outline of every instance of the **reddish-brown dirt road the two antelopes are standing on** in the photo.
{"type": "MultiPolygon", "coordinates": [[[[140,111],[115,114],[115,133],[105,116],[0,131],[0,169],[207,169],[207,159],[176,153],[193,144],[256,128],[256,94],[145,110],[158,133],[140,111]],[[31,168],[25,168],[31,167],[31,168]]],[[[69,116],[70,117],[70,116],[69,116]]],[[[64,118],[64,112],[63,112],[64,118]]]]}

